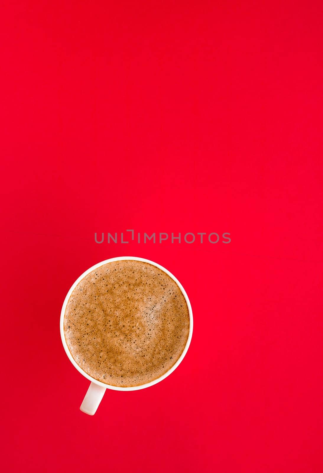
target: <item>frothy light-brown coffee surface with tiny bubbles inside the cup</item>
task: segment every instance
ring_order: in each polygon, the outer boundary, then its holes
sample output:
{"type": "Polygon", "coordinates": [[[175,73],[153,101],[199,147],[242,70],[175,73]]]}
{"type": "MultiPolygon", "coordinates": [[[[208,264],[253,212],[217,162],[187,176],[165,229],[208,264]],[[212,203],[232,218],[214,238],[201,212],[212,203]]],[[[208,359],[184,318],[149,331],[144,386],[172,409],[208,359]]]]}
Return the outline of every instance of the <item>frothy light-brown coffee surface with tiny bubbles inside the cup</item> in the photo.
{"type": "Polygon", "coordinates": [[[157,379],[181,356],[189,311],[177,284],[149,263],[106,263],[79,282],[68,301],[64,334],[88,375],[113,386],[157,379]]]}

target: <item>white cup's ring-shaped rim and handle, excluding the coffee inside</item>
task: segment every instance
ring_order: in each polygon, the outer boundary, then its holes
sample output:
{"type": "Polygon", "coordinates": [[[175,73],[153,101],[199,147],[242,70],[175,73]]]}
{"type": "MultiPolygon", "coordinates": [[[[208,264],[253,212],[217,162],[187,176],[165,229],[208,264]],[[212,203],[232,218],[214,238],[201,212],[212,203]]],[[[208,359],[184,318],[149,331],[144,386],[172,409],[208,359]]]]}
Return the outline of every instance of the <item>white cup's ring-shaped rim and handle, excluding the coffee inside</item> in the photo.
{"type": "Polygon", "coordinates": [[[87,379],[89,379],[91,381],[91,384],[89,385],[89,388],[87,390],[87,394],[85,395],[85,398],[83,399],[83,402],[81,404],[80,410],[82,412],[85,412],[85,413],[89,414],[89,415],[93,415],[93,414],[96,413],[96,409],[98,408],[98,406],[99,406],[99,404],[100,404],[100,402],[103,398],[103,395],[105,394],[106,389],[114,389],[115,391],[136,391],[138,389],[144,389],[146,387],[153,386],[153,385],[159,383],[159,381],[162,381],[163,379],[165,379],[171,373],[173,373],[173,371],[178,367],[178,365],[183,360],[183,358],[186,355],[186,352],[188,350],[188,347],[190,346],[190,343],[191,343],[192,332],[193,332],[192,307],[191,307],[189,298],[187,297],[187,294],[186,294],[182,284],[175,278],[175,276],[173,276],[173,274],[171,272],[169,272],[168,270],[163,268],[163,266],[161,266],[160,264],[154,263],[153,261],[146,260],[144,258],[137,258],[137,257],[134,257],[134,256],[121,256],[121,257],[118,257],[118,258],[110,258],[109,260],[101,261],[101,263],[95,264],[94,266],[89,268],[87,271],[85,271],[83,274],[81,274],[81,276],[74,282],[74,284],[70,288],[69,292],[67,293],[67,296],[66,296],[66,298],[64,300],[64,303],[63,303],[63,307],[61,308],[60,330],[61,330],[61,341],[63,343],[63,347],[66,351],[66,354],[70,359],[70,362],[72,363],[72,365],[74,365],[74,367],[84,377],[86,377],[87,379]],[[71,295],[72,291],[75,289],[75,287],[79,284],[79,282],[89,272],[94,271],[96,268],[99,268],[103,264],[112,263],[113,261],[122,261],[122,260],[142,261],[143,263],[152,264],[153,266],[156,266],[160,270],[166,272],[166,274],[168,274],[168,276],[170,278],[172,278],[175,281],[175,283],[177,284],[177,286],[181,289],[181,291],[183,293],[183,296],[186,300],[186,304],[187,304],[188,312],[189,312],[189,316],[190,316],[190,328],[189,328],[187,342],[186,342],[186,345],[184,347],[184,350],[183,350],[181,356],[176,361],[175,365],[173,365],[172,368],[170,368],[168,371],[166,371],[166,373],[164,375],[160,376],[157,379],[154,379],[154,381],[151,381],[150,383],[146,383],[146,384],[143,384],[143,385],[140,385],[140,386],[130,386],[130,387],[112,386],[112,385],[107,385],[105,383],[102,383],[101,381],[98,381],[97,379],[94,379],[93,377],[89,376],[85,371],[83,371],[82,368],[79,367],[79,365],[76,363],[76,361],[73,359],[72,355],[70,354],[70,350],[67,346],[67,343],[66,343],[66,340],[65,340],[65,334],[64,334],[65,309],[66,309],[67,303],[70,299],[70,295],[71,295]]]}

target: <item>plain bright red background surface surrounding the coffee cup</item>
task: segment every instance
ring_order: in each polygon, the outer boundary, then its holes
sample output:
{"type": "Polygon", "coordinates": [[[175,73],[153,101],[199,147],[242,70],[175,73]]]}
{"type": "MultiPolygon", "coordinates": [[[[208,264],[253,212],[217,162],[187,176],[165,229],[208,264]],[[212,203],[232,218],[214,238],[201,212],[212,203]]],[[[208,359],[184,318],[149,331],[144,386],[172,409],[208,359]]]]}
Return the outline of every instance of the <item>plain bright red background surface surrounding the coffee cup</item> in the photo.
{"type": "Polygon", "coordinates": [[[5,471],[322,472],[322,2],[7,0],[1,16],[5,471]],[[232,242],[94,242],[127,228],[232,242]],[[120,255],[182,282],[192,344],[90,417],[61,305],[120,255]]]}

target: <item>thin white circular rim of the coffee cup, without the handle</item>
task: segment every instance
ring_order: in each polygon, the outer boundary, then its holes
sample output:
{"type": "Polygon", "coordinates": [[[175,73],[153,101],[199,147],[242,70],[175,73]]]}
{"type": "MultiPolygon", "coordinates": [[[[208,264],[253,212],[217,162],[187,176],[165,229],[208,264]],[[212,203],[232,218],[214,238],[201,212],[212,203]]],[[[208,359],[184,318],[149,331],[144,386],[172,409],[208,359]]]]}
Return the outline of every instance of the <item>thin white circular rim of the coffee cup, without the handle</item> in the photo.
{"type": "Polygon", "coordinates": [[[69,292],[67,293],[65,299],[64,299],[64,302],[63,302],[63,306],[61,308],[61,319],[60,319],[60,331],[61,331],[61,341],[62,341],[62,344],[63,344],[63,347],[64,347],[64,350],[68,356],[68,358],[70,359],[70,362],[72,363],[72,365],[81,373],[81,375],[83,375],[84,377],[86,377],[89,381],[91,381],[92,383],[95,383],[101,387],[105,387],[106,389],[113,389],[114,391],[137,391],[138,389],[145,389],[146,387],[149,387],[149,386],[153,386],[157,383],[159,383],[160,381],[162,381],[163,379],[165,379],[167,376],[169,376],[171,373],[173,373],[173,371],[178,367],[178,365],[181,363],[181,361],[183,360],[184,356],[186,355],[186,352],[190,346],[190,343],[191,343],[191,340],[192,340],[192,333],[193,333],[193,314],[192,314],[192,307],[191,307],[191,303],[190,303],[190,300],[185,292],[185,289],[183,288],[182,284],[179,282],[179,280],[177,280],[175,278],[175,276],[169,272],[166,268],[164,268],[163,266],[161,266],[160,264],[158,263],[155,263],[154,261],[151,261],[151,260],[147,260],[145,258],[139,258],[137,256],[119,256],[119,257],[116,257],[116,258],[109,258],[108,260],[105,260],[105,261],[101,261],[100,263],[96,263],[94,266],[91,266],[91,268],[88,268],[85,272],[83,272],[83,274],[81,274],[79,276],[79,278],[74,282],[74,284],[71,286],[69,292]],[[66,309],[66,306],[67,306],[67,303],[70,299],[70,295],[72,293],[72,291],[76,288],[76,286],[79,284],[79,282],[89,273],[89,272],[92,272],[94,271],[96,268],[99,268],[100,266],[106,264],[106,263],[112,263],[113,261],[123,261],[123,260],[132,260],[132,261],[141,261],[143,263],[149,263],[149,264],[152,264],[153,266],[156,266],[157,268],[159,268],[160,270],[166,272],[166,274],[172,278],[176,284],[178,285],[178,287],[181,289],[182,293],[183,293],[183,296],[185,298],[185,301],[186,301],[186,304],[187,304],[187,308],[188,308],[188,312],[189,312],[189,317],[190,317],[190,328],[189,328],[189,333],[188,333],[188,337],[187,337],[187,342],[185,344],[185,347],[184,347],[184,350],[182,351],[181,353],[181,356],[179,357],[179,359],[176,361],[176,363],[168,370],[166,371],[166,373],[164,373],[162,376],[160,376],[159,378],[157,379],[154,379],[153,381],[150,381],[150,383],[146,383],[146,384],[143,384],[143,385],[139,385],[139,386],[126,386],[126,387],[122,387],[122,386],[112,386],[112,385],[108,385],[108,384],[105,384],[105,383],[102,383],[101,381],[98,381],[97,379],[89,376],[82,368],[79,367],[79,365],[77,364],[77,362],[75,361],[75,359],[72,357],[71,353],[70,353],[70,350],[67,346],[67,343],[66,343],[66,340],[65,340],[65,334],[64,334],[64,315],[65,315],[65,309],[66,309]]]}

